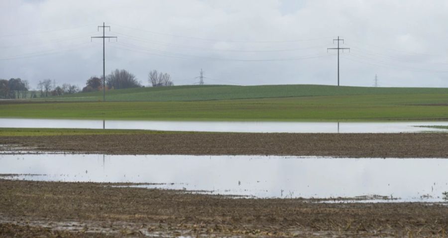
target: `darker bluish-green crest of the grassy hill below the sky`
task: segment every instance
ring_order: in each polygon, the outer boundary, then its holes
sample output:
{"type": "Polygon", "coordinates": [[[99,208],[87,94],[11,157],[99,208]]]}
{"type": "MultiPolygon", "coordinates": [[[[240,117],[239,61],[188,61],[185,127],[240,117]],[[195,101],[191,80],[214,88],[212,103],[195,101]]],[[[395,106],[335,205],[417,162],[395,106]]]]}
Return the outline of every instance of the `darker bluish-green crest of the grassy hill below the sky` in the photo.
{"type": "MultiPolygon", "coordinates": [[[[107,101],[170,102],[233,99],[261,99],[309,96],[448,94],[448,88],[369,88],[327,85],[261,85],[261,86],[174,86],[133,88],[106,92],[107,101]]],[[[49,97],[46,101],[98,102],[103,92],[79,93],[49,97]]]]}

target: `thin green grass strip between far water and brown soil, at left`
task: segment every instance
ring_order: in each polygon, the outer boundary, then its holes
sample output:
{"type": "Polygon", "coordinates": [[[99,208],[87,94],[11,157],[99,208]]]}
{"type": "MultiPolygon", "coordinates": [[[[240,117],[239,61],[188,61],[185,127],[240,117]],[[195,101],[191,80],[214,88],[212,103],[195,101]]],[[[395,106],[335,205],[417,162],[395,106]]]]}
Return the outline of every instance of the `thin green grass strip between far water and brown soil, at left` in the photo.
{"type": "Polygon", "coordinates": [[[195,133],[195,132],[124,130],[124,129],[0,128],[0,136],[169,134],[169,133],[195,133]]]}

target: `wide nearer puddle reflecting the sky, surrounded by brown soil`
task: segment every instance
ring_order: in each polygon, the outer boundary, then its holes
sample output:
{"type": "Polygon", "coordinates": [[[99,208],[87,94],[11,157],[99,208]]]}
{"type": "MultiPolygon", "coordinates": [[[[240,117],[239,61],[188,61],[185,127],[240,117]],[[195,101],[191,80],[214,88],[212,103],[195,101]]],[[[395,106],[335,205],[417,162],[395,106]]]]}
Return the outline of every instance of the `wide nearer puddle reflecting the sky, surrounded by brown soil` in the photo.
{"type": "Polygon", "coordinates": [[[443,202],[446,168],[448,159],[432,158],[0,154],[0,174],[10,175],[3,178],[146,183],[131,186],[256,198],[443,202]]]}

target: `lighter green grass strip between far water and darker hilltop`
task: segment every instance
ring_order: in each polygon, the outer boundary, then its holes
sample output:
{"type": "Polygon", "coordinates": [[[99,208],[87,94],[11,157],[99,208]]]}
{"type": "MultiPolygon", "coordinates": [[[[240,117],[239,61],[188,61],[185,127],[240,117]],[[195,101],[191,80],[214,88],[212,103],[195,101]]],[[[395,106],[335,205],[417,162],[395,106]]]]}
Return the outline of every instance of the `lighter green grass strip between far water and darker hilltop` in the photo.
{"type": "Polygon", "coordinates": [[[377,121],[448,120],[448,94],[373,94],[192,102],[0,104],[0,118],[377,121]]]}

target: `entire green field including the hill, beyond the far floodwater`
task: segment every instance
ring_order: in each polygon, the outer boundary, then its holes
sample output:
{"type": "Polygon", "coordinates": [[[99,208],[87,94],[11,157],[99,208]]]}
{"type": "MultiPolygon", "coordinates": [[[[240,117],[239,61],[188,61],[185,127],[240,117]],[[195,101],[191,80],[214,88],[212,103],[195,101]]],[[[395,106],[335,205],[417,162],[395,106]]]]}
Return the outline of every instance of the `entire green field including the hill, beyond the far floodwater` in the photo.
{"type": "Polygon", "coordinates": [[[177,86],[48,98],[67,103],[0,104],[0,118],[376,121],[448,120],[446,88],[317,85],[177,86]],[[97,95],[97,96],[95,96],[97,95]],[[94,102],[88,101],[94,97],[94,102]],[[115,100],[116,102],[111,102],[115,100]]]}

